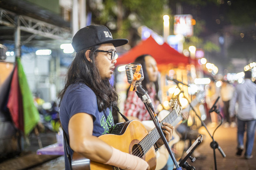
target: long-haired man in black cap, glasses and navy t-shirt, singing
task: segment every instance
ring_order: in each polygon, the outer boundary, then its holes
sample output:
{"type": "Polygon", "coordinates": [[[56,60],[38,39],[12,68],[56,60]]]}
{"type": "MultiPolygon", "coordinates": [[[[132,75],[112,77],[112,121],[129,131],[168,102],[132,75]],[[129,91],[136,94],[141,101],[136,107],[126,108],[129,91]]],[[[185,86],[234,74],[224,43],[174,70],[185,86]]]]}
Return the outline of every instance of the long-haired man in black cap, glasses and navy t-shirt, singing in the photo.
{"type": "MultiPolygon", "coordinates": [[[[114,125],[112,108],[118,100],[118,94],[109,83],[116,63],[115,47],[127,42],[126,39],[113,39],[103,25],[84,27],[72,39],[76,57],[60,93],[60,120],[68,143],[65,169],[74,169],[75,165],[84,163],[72,162],[71,167],[69,157],[73,160],[75,155],[89,159],[89,169],[152,169],[149,161],[111,145],[123,145],[128,137],[119,139],[122,135],[116,135],[118,139],[112,139],[115,136],[107,134],[114,125]]],[[[172,128],[170,124],[164,127],[167,141],[172,138],[172,128]]],[[[163,145],[163,141],[158,140],[156,145],[163,145]]]]}

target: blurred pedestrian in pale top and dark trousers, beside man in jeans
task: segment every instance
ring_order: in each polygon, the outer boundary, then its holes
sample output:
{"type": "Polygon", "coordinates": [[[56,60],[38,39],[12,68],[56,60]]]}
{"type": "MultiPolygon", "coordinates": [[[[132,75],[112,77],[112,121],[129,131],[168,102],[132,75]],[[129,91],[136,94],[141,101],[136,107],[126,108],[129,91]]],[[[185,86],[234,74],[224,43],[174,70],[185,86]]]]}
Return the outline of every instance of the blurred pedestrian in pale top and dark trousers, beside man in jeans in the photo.
{"type": "Polygon", "coordinates": [[[224,119],[226,120],[224,127],[235,127],[234,117],[230,118],[229,102],[233,97],[235,88],[227,81],[222,82],[221,99],[223,102],[224,119]]]}

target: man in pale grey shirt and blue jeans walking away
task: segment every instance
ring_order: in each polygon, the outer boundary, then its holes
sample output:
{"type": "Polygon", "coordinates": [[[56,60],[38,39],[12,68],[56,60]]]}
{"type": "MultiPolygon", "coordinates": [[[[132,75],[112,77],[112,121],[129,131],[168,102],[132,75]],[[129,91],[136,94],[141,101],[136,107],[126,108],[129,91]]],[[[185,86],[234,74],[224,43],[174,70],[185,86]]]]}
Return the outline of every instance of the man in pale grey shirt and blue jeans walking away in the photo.
{"type": "Polygon", "coordinates": [[[256,84],[251,81],[251,71],[245,71],[244,83],[238,84],[232,100],[230,100],[230,114],[235,115],[235,103],[238,102],[237,116],[237,155],[244,149],[243,138],[246,130],[245,159],[251,159],[256,128],[256,84]]]}

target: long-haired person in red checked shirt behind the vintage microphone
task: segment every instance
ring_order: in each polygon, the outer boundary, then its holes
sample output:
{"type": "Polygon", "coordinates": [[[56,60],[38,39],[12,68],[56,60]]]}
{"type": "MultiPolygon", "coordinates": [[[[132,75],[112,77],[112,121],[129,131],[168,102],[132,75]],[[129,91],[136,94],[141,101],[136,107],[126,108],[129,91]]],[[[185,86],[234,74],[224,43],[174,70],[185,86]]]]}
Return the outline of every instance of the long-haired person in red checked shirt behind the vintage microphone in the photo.
{"type": "MultiPolygon", "coordinates": [[[[140,63],[142,65],[143,76],[144,76],[144,79],[142,81],[142,86],[145,87],[145,89],[147,89],[148,95],[150,96],[154,104],[154,107],[157,108],[160,102],[158,97],[159,84],[158,84],[158,67],[156,64],[156,60],[149,54],[143,54],[141,56],[138,56],[134,62],[140,63]]],[[[151,120],[150,114],[148,113],[141,99],[138,98],[137,94],[134,91],[129,91],[129,89],[127,90],[127,98],[124,104],[124,115],[127,116],[129,120],[136,119],[143,122],[147,122],[148,120],[151,120]]],[[[145,127],[147,128],[148,131],[151,130],[151,126],[145,125],[145,127]]],[[[161,170],[167,170],[167,169],[173,168],[173,167],[168,168],[166,164],[167,159],[166,159],[166,162],[164,161],[165,165],[158,165],[159,167],[161,167],[161,170]]]]}

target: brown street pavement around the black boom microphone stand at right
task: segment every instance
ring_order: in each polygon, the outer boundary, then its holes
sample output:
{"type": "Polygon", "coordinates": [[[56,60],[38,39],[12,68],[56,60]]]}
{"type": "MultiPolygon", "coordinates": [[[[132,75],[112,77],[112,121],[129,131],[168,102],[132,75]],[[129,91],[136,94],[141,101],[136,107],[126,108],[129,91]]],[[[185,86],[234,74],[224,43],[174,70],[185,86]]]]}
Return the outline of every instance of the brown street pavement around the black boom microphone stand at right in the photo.
{"type": "MultiPolygon", "coordinates": [[[[213,134],[216,126],[207,126],[207,129],[213,134]]],[[[196,170],[256,170],[256,145],[254,139],[254,147],[252,159],[244,158],[244,151],[241,156],[236,156],[237,152],[237,128],[220,126],[214,133],[214,140],[221,146],[226,157],[224,158],[218,149],[215,149],[216,164],[214,163],[214,149],[211,148],[210,144],[213,141],[208,132],[204,127],[199,129],[199,133],[203,135],[203,143],[198,146],[197,150],[204,159],[196,159],[195,162],[189,162],[190,165],[194,166],[196,170]]]]}

